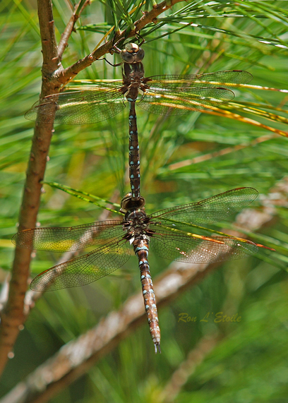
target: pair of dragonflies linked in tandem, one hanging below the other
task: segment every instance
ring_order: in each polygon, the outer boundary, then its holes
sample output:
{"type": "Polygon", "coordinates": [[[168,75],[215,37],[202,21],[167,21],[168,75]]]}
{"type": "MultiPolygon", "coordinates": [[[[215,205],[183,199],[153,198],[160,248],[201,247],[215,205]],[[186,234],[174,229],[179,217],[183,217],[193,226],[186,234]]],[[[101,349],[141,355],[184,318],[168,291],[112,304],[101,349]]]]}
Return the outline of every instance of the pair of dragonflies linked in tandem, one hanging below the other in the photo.
{"type": "Polygon", "coordinates": [[[56,265],[32,280],[36,291],[52,291],[89,284],[121,267],[131,247],[138,257],[145,310],[155,352],[160,351],[160,327],[152,287],[148,251],[184,263],[208,263],[243,258],[257,251],[251,241],[233,236],[200,236],[184,232],[189,224],[210,224],[238,212],[258,195],[254,188],[236,188],[202,200],[170,207],[146,215],[140,196],[140,157],[136,122],[139,107],[160,115],[180,115],[219,107],[234,98],[230,88],[248,83],[246,71],[220,71],[193,76],[144,76],[144,51],[136,44],[116,48],[123,60],[123,79],[96,85],[88,90],[72,90],[49,95],[25,114],[27,119],[46,123],[92,124],[109,119],[129,102],[129,174],[131,193],[121,201],[124,219],[95,222],[68,228],[35,228],[20,231],[13,243],[23,248],[45,251],[74,251],[98,245],[94,251],[56,265]],[[178,228],[177,228],[178,227],[178,228]],[[78,240],[80,239],[80,243],[78,240]],[[104,243],[104,244],[102,244],[104,243]]]}

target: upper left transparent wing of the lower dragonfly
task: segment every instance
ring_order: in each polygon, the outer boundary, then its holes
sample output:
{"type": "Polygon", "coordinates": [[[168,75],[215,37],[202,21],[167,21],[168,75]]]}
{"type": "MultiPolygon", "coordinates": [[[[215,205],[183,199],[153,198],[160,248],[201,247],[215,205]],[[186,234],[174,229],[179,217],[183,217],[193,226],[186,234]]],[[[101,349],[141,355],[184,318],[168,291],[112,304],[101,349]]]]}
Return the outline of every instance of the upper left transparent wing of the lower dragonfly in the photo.
{"type": "Polygon", "coordinates": [[[99,245],[107,239],[124,235],[119,220],[92,222],[76,227],[42,227],[25,229],[15,234],[12,242],[37,251],[66,252],[77,251],[87,246],[99,245]]]}

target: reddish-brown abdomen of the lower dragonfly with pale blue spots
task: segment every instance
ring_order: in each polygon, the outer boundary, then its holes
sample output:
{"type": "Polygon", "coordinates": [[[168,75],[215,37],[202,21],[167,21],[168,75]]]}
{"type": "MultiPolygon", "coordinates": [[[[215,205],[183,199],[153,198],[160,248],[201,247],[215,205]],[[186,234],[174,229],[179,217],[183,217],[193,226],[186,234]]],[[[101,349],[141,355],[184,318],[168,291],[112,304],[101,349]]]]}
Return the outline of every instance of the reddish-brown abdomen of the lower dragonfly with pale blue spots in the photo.
{"type": "Polygon", "coordinates": [[[155,353],[160,350],[160,327],[158,321],[157,306],[153,290],[150,267],[148,264],[149,241],[148,239],[135,239],[133,241],[135,254],[138,256],[140,279],[142,283],[142,292],[145,311],[150,327],[150,334],[155,346],[155,353]]]}

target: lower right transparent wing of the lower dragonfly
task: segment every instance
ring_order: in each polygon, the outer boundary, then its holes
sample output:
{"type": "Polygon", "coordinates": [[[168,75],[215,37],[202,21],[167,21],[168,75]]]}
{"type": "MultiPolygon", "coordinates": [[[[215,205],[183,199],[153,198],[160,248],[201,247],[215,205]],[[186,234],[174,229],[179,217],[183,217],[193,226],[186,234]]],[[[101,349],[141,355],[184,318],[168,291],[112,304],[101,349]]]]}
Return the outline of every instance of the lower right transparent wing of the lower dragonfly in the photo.
{"type": "Polygon", "coordinates": [[[203,239],[188,234],[161,231],[151,238],[151,249],[162,258],[184,263],[212,263],[253,255],[258,247],[251,241],[232,236],[209,236],[203,239]]]}

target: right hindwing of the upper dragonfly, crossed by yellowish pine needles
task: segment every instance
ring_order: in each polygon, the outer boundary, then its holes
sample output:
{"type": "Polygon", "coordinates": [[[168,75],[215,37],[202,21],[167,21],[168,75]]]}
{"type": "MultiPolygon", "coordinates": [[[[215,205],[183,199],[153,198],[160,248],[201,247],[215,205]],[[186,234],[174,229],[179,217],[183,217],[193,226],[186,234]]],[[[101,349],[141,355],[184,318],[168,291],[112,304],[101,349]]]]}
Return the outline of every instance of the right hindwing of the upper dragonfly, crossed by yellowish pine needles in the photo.
{"type": "Polygon", "coordinates": [[[151,86],[145,90],[138,106],[157,115],[184,115],[233,100],[234,92],[227,88],[178,88],[170,90],[151,86]]]}

